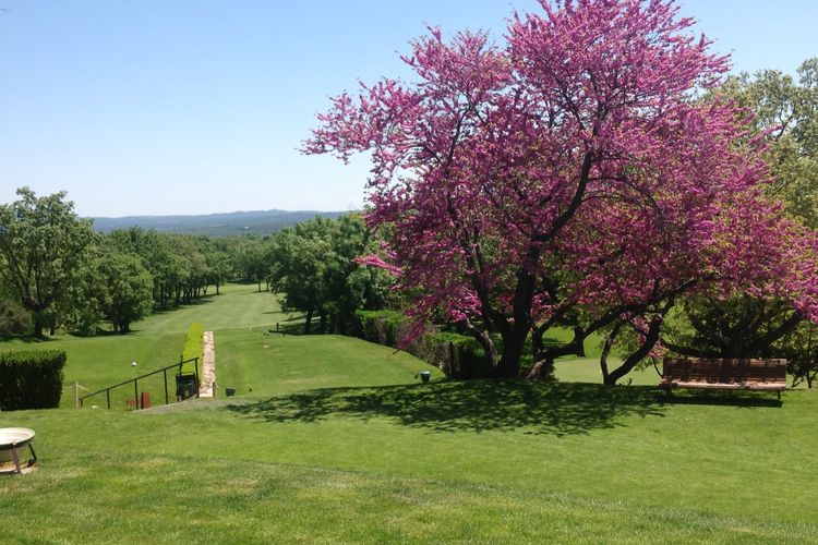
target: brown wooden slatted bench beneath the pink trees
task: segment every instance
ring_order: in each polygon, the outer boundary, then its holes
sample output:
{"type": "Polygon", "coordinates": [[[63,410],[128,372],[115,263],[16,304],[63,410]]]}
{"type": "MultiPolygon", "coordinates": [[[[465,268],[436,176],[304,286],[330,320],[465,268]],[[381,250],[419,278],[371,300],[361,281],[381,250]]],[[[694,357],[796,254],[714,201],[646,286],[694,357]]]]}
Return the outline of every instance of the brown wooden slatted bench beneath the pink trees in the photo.
{"type": "Polygon", "coordinates": [[[665,358],[660,388],[774,391],[786,389],[786,360],[665,358]]]}

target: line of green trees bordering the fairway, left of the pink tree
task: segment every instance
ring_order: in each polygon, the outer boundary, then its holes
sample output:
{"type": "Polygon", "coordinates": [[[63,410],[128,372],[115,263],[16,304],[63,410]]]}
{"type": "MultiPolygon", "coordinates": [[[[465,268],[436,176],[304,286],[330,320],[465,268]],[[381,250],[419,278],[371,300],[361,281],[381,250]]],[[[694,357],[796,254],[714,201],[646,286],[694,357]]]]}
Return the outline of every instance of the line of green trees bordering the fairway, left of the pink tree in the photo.
{"type": "Polygon", "coordinates": [[[316,218],[269,237],[96,233],[65,193],[17,190],[0,206],[0,332],[43,337],[58,329],[124,334],[154,310],[219,294],[228,280],[282,293],[286,310],[318,331],[346,332],[357,308],[386,298],[388,279],[354,263],[374,241],[360,216],[316,218]],[[210,291],[212,290],[212,291],[210,291]]]}

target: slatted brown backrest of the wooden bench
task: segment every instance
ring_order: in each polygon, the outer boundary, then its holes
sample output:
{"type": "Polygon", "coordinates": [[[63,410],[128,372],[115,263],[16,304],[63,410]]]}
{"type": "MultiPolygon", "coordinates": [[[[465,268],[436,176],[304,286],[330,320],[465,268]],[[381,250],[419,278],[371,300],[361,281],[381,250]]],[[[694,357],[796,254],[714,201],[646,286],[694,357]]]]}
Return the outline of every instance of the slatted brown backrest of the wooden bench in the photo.
{"type": "Polygon", "coordinates": [[[664,379],[713,384],[785,383],[786,360],[665,358],[664,379]]]}

